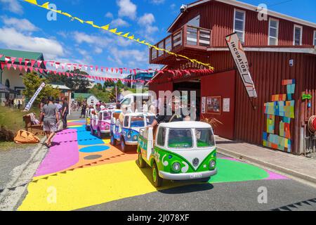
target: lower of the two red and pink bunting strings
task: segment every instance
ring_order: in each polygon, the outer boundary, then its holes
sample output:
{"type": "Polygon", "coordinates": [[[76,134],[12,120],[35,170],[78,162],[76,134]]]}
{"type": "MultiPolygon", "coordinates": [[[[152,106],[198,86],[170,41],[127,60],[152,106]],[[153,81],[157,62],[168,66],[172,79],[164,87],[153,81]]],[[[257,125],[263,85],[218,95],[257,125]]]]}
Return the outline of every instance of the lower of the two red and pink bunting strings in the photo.
{"type": "MultiPolygon", "coordinates": [[[[123,78],[113,78],[113,77],[100,77],[100,76],[97,76],[97,75],[82,75],[82,74],[77,74],[77,73],[73,73],[73,72],[60,72],[60,71],[57,71],[57,70],[47,70],[47,69],[43,69],[43,68],[34,68],[32,66],[29,66],[29,65],[25,65],[23,67],[23,65],[16,65],[16,64],[12,64],[12,63],[6,63],[6,62],[0,62],[1,64],[1,69],[4,70],[5,66],[6,68],[8,68],[8,70],[11,69],[11,67],[13,67],[14,70],[16,70],[17,68],[20,70],[20,72],[22,72],[22,70],[24,69],[25,72],[27,72],[27,70],[29,70],[30,72],[33,72],[36,71],[36,72],[40,72],[40,73],[43,73],[43,72],[49,72],[51,74],[54,74],[54,75],[64,75],[64,76],[67,76],[67,77],[74,77],[74,76],[82,76],[82,77],[87,77],[88,79],[94,79],[94,80],[99,80],[99,81],[111,81],[111,82],[117,82],[117,81],[121,81],[121,82],[140,82],[142,84],[144,84],[146,81],[143,80],[143,79],[123,79],[123,78]]],[[[171,74],[173,74],[173,79],[180,79],[183,77],[183,75],[185,74],[190,74],[190,72],[194,72],[196,75],[206,75],[206,74],[209,74],[209,73],[212,73],[213,70],[211,69],[204,69],[204,70],[186,70],[186,71],[183,71],[181,72],[180,70],[176,70],[177,72],[173,72],[173,70],[164,70],[164,72],[170,72],[171,74]]],[[[152,81],[150,80],[149,83],[154,83],[156,81],[152,81]]],[[[158,82],[158,81],[157,81],[158,82]]]]}

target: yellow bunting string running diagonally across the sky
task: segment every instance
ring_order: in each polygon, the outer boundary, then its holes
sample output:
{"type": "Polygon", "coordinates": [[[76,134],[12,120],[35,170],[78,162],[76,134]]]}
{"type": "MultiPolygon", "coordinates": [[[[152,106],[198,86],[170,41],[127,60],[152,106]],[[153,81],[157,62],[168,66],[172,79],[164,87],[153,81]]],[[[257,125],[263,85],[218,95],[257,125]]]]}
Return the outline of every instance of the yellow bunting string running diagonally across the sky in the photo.
{"type": "Polygon", "coordinates": [[[79,19],[79,18],[77,18],[77,17],[75,17],[75,16],[70,15],[69,13],[65,13],[65,12],[62,12],[62,11],[60,11],[60,10],[55,10],[55,9],[53,9],[53,8],[48,8],[49,2],[46,2],[46,3],[42,4],[42,5],[39,5],[39,4],[37,4],[37,0],[23,0],[23,1],[26,1],[26,2],[28,2],[29,4],[33,4],[33,5],[38,6],[38,7],[40,7],[40,8],[45,8],[45,9],[48,10],[48,11],[53,11],[53,12],[58,13],[58,14],[60,14],[60,15],[65,15],[65,16],[71,18],[72,20],[77,20],[77,21],[79,21],[79,22],[82,23],[82,24],[86,23],[86,24],[88,24],[88,25],[91,25],[91,26],[94,27],[94,28],[98,28],[98,29],[105,30],[105,31],[107,31],[107,32],[111,32],[112,34],[116,34],[116,35],[119,36],[119,37],[124,37],[124,38],[126,38],[126,39],[130,39],[130,40],[132,40],[132,41],[136,41],[136,42],[138,42],[139,44],[144,44],[144,45],[148,46],[149,48],[154,48],[154,49],[156,49],[157,51],[164,51],[165,53],[168,53],[168,54],[170,54],[170,55],[176,56],[176,57],[178,57],[178,58],[185,58],[186,60],[189,60],[191,63],[197,63],[197,64],[199,64],[199,65],[204,65],[206,68],[209,68],[209,69],[211,69],[211,70],[214,70],[214,68],[213,68],[209,63],[202,63],[202,62],[200,62],[199,60],[192,59],[192,58],[188,58],[187,56],[183,56],[183,55],[180,55],[180,54],[177,54],[177,53],[173,53],[173,52],[168,51],[168,50],[166,50],[166,49],[161,49],[161,48],[159,48],[159,47],[157,47],[157,46],[154,46],[154,45],[150,44],[149,42],[147,42],[147,41],[145,41],[145,40],[140,41],[139,38],[136,39],[136,37],[134,37],[133,34],[130,34],[130,32],[126,32],[126,33],[124,33],[124,32],[117,32],[117,28],[112,28],[112,27],[110,27],[110,24],[103,25],[103,26],[99,26],[99,25],[95,25],[95,24],[93,23],[93,21],[81,20],[81,19],[79,19]]]}

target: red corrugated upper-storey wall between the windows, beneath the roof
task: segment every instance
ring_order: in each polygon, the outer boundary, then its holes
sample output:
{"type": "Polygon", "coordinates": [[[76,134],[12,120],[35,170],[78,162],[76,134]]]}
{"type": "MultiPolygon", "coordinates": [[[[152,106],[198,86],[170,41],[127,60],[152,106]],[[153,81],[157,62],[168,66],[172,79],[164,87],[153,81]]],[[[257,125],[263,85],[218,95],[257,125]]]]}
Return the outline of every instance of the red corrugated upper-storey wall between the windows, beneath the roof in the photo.
{"type": "MultiPolygon", "coordinates": [[[[234,6],[223,4],[217,1],[210,1],[206,4],[190,8],[173,26],[177,30],[187,21],[201,16],[200,27],[212,30],[213,47],[226,46],[225,36],[233,32],[234,27],[234,6]]],[[[242,8],[240,8],[242,9],[242,8]]],[[[244,10],[244,9],[242,9],[244,10]]],[[[268,45],[268,21],[259,21],[258,13],[246,11],[245,46],[266,46],[268,45]]],[[[278,19],[278,18],[277,18],[278,19]]],[[[279,45],[292,46],[294,42],[294,24],[289,20],[279,20],[279,45]]],[[[300,24],[297,24],[300,25],[300,24]]],[[[303,26],[303,25],[302,25],[303,26]]],[[[313,45],[315,28],[303,26],[303,45],[313,45]]]]}

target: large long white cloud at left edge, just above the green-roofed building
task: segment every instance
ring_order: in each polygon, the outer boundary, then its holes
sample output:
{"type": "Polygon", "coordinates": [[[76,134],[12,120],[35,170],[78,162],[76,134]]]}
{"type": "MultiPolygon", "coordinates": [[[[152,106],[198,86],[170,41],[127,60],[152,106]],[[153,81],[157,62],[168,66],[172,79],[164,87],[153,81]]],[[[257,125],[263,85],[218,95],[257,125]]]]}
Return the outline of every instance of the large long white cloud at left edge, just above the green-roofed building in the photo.
{"type": "Polygon", "coordinates": [[[44,37],[32,37],[22,34],[14,28],[0,28],[0,43],[3,43],[9,49],[18,49],[25,51],[35,51],[44,53],[44,57],[55,58],[62,56],[64,49],[62,45],[53,39],[44,37]]]}

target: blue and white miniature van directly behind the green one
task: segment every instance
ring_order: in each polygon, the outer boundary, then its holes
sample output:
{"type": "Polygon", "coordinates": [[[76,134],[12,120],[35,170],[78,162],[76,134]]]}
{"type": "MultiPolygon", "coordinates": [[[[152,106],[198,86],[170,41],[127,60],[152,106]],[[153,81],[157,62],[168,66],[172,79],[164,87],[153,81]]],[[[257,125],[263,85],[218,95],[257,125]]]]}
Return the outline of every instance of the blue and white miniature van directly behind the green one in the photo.
{"type": "Polygon", "coordinates": [[[112,145],[121,143],[121,150],[137,148],[140,129],[144,129],[154,121],[152,113],[126,113],[112,116],[110,131],[112,145]],[[115,117],[116,116],[116,117],[115,117]]]}

